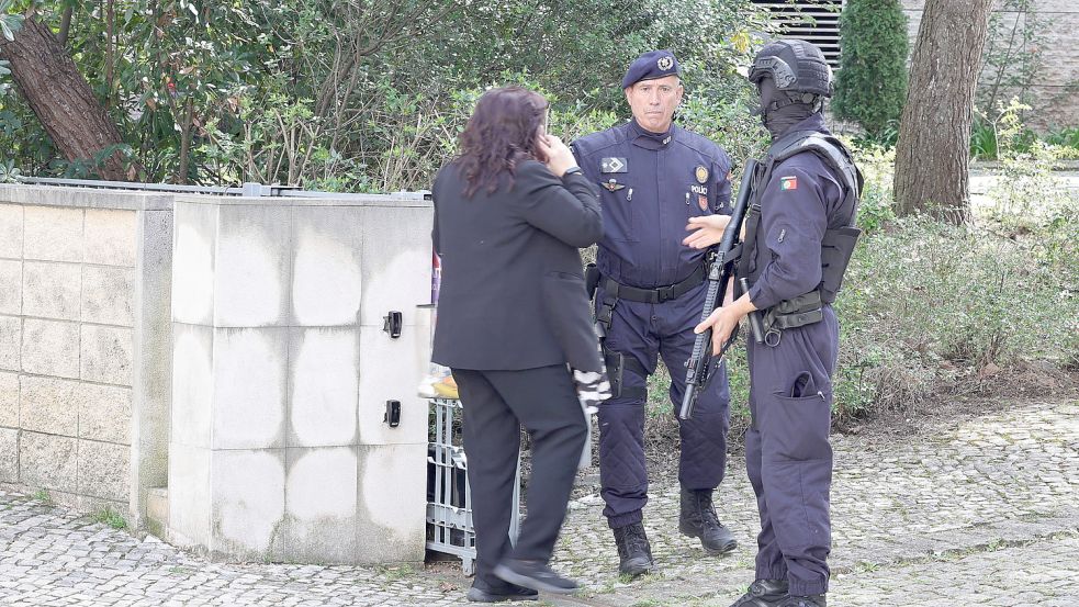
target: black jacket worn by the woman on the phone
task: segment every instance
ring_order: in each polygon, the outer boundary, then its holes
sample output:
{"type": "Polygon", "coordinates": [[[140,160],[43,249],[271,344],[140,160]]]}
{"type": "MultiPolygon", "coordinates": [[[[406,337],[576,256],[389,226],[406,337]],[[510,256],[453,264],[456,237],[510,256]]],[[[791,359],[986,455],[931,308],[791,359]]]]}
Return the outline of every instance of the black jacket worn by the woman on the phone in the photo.
{"type": "Polygon", "coordinates": [[[465,198],[467,183],[452,162],[435,178],[442,283],[431,359],[486,371],[567,362],[599,371],[578,251],[603,237],[592,184],[535,160],[492,194],[465,198]]]}

